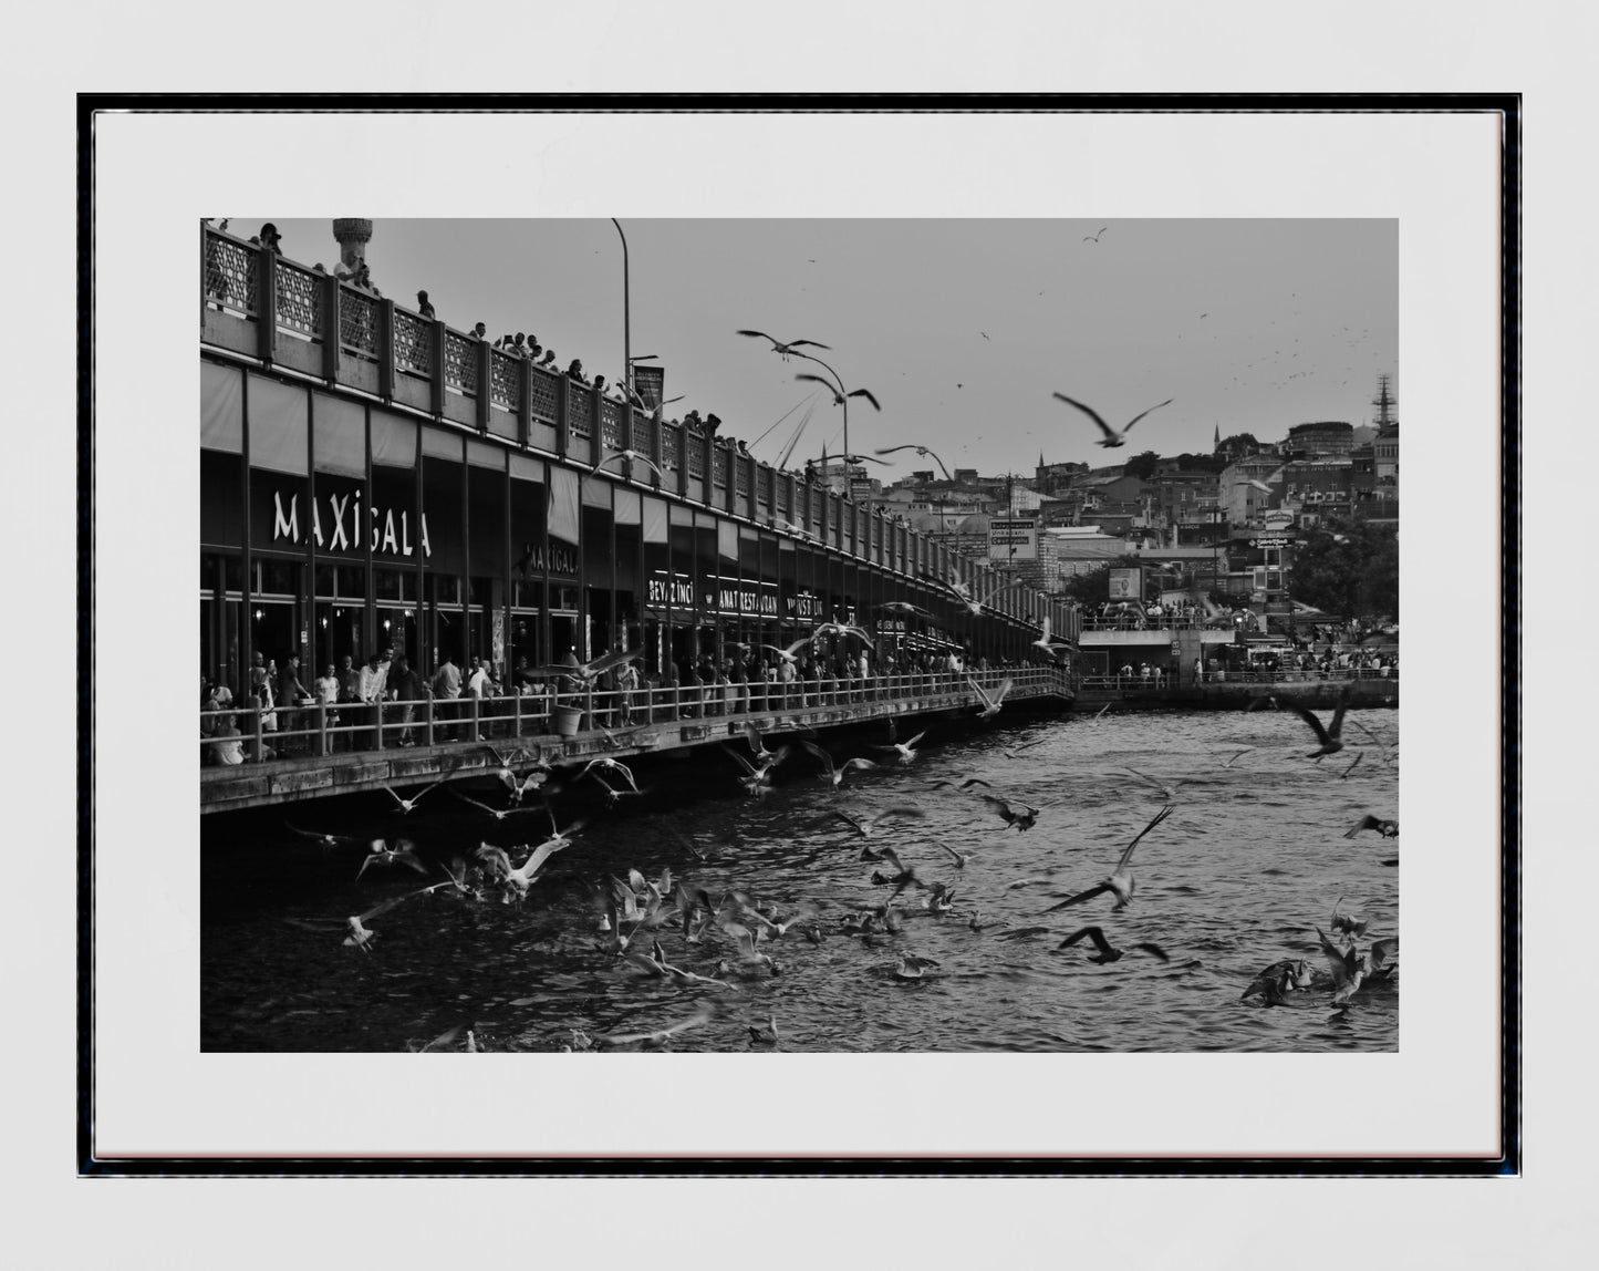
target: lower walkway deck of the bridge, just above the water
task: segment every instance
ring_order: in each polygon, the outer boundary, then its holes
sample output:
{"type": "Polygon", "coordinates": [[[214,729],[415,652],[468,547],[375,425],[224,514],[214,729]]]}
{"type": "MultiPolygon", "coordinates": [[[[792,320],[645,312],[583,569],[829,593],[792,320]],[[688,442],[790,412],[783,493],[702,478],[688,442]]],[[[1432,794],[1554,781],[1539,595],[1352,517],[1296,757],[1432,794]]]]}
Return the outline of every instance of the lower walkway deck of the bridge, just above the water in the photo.
{"type": "MultiPolygon", "coordinates": [[[[974,672],[972,679],[993,693],[1006,676],[1012,679],[1012,688],[1006,701],[1057,698],[1062,704],[1070,704],[1073,700],[1068,677],[1054,668],[985,671],[974,672]]],[[[640,693],[638,696],[644,698],[646,695],[640,693]]],[[[684,690],[684,696],[688,696],[688,690],[684,690]]],[[[873,684],[865,690],[841,687],[833,695],[819,695],[815,704],[780,711],[740,711],[708,717],[665,719],[620,730],[588,728],[572,736],[545,732],[548,725],[545,714],[483,716],[477,719],[475,725],[481,732],[483,741],[473,738],[465,741],[435,741],[433,744],[419,743],[406,748],[393,744],[403,725],[385,719],[382,725],[385,735],[384,749],[270,759],[267,762],[248,762],[235,767],[201,767],[200,812],[233,812],[377,791],[384,786],[398,789],[440,780],[484,776],[499,770],[488,746],[496,748],[507,757],[510,757],[512,751],[520,749],[526,756],[526,762],[580,759],[593,754],[609,754],[620,759],[636,754],[707,746],[728,741],[729,738],[737,740],[742,746],[744,732],[750,724],[763,733],[772,735],[801,728],[820,732],[873,719],[959,711],[971,708],[974,700],[975,695],[964,679],[948,676],[931,680],[927,677],[907,677],[903,682],[873,684]],[[883,692],[892,692],[892,695],[878,696],[883,692]],[[827,701],[827,696],[836,700],[827,701]],[[387,740],[392,735],[393,740],[387,740]]],[[[305,711],[304,714],[315,716],[317,712],[305,711]]],[[[469,720],[465,719],[453,724],[457,730],[464,730],[467,725],[469,720]]],[[[414,724],[413,727],[416,732],[424,732],[425,725],[414,724]]],[[[427,732],[437,736],[443,727],[443,724],[438,724],[437,728],[429,728],[427,732]]],[[[357,735],[369,738],[374,730],[371,727],[352,727],[347,730],[307,728],[302,736],[307,743],[315,744],[320,738],[337,736],[339,733],[349,733],[352,738],[357,735]]],[[[254,736],[245,738],[246,754],[251,752],[253,741],[254,736]]],[[[272,733],[265,735],[265,741],[273,741],[272,733]]],[[[201,752],[213,743],[201,743],[201,752]]]]}

